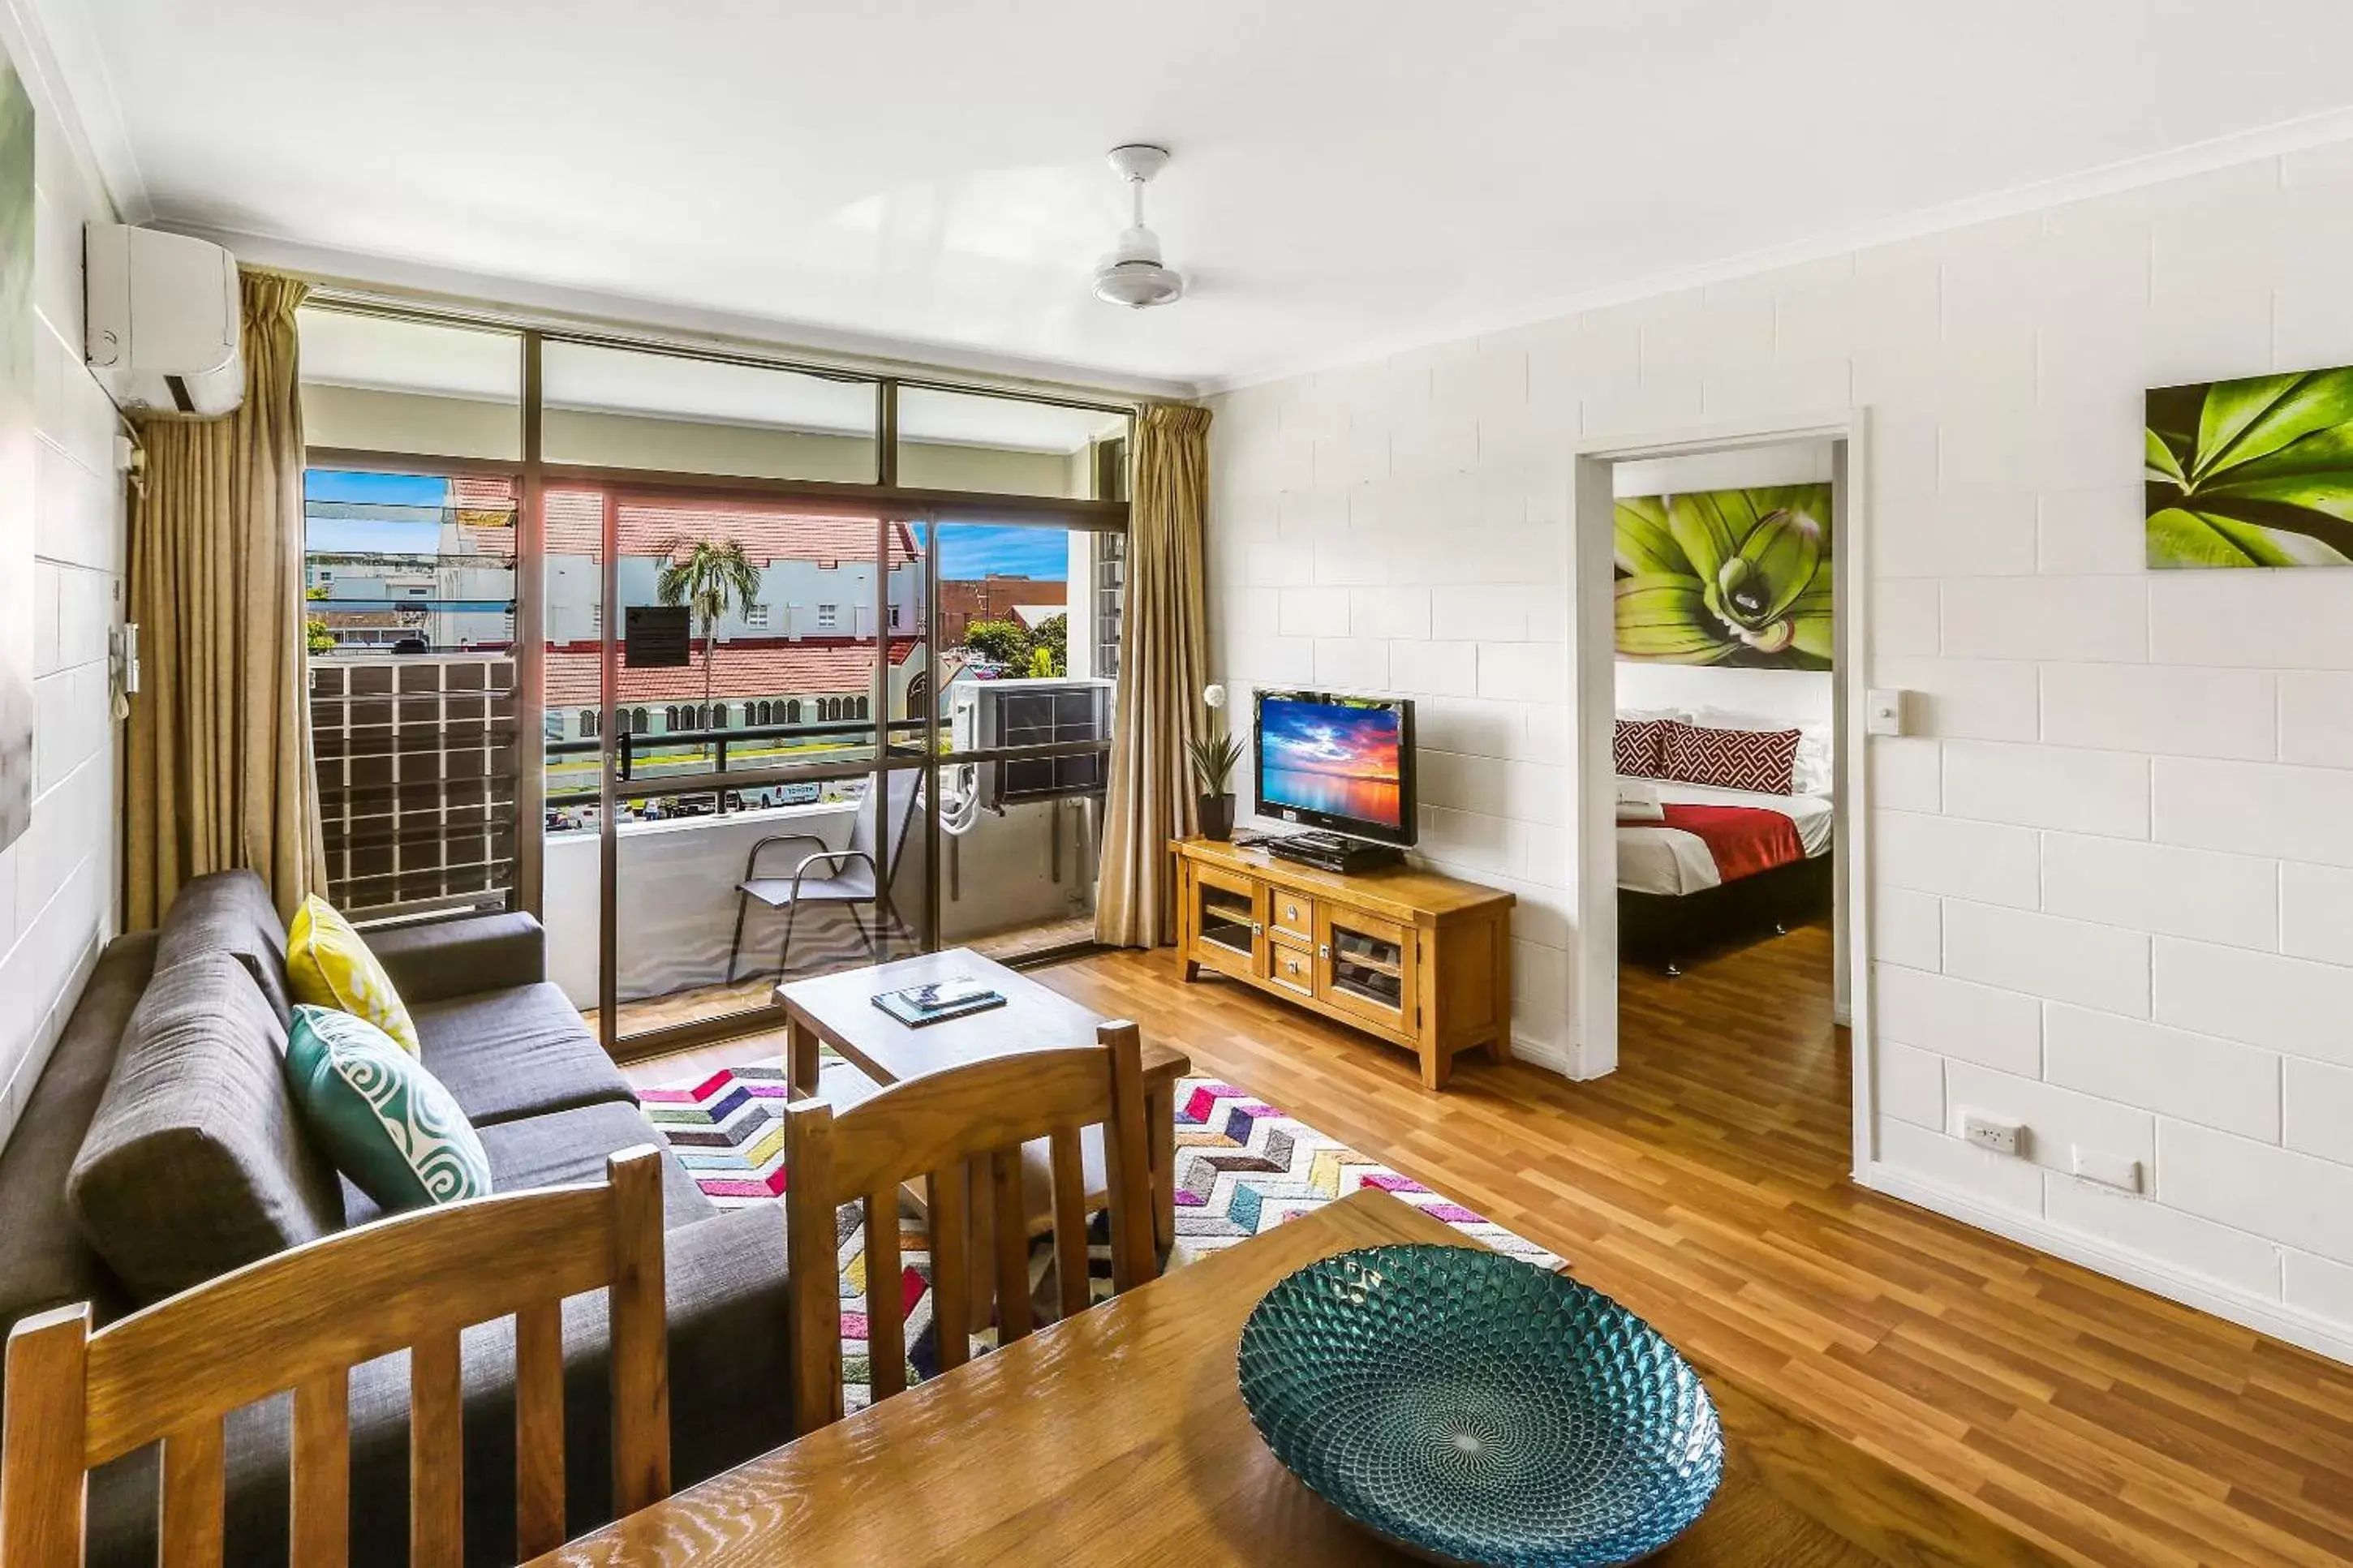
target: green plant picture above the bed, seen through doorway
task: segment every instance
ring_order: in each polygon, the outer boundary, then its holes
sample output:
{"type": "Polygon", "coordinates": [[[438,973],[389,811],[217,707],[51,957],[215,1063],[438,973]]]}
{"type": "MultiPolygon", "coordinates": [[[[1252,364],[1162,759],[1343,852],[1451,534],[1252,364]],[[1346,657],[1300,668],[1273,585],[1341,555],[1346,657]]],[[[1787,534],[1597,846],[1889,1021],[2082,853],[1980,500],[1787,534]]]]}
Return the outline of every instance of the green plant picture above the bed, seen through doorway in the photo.
{"type": "Polygon", "coordinates": [[[1831,487],[1617,503],[1617,651],[1671,665],[1831,668],[1831,487]]]}

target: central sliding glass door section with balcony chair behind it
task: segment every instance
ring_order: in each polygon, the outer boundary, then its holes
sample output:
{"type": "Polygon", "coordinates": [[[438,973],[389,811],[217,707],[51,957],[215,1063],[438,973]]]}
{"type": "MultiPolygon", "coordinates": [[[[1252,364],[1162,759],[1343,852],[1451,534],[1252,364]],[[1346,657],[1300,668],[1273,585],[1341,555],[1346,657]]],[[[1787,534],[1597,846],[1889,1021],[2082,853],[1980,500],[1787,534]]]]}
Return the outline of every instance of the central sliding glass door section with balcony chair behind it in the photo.
{"type": "Polygon", "coordinates": [[[548,494],[548,945],[614,1048],[922,947],[920,773],[882,766],[920,729],[913,541],[758,494],[548,494]]]}

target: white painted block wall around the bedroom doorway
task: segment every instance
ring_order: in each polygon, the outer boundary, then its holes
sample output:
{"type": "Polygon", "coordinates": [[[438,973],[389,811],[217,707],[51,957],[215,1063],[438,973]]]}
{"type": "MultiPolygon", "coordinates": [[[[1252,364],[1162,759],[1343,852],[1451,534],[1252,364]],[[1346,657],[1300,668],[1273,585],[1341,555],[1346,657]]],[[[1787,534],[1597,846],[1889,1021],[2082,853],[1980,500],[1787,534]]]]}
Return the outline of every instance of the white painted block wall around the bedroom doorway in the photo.
{"type": "Polygon", "coordinates": [[[2148,574],[2139,484],[2144,388],[2353,362],[2348,247],[2339,146],[1221,395],[1217,675],[1419,701],[1562,1065],[1569,451],[1868,407],[1880,1171],[2353,1356],[2353,571],[2148,574]]]}

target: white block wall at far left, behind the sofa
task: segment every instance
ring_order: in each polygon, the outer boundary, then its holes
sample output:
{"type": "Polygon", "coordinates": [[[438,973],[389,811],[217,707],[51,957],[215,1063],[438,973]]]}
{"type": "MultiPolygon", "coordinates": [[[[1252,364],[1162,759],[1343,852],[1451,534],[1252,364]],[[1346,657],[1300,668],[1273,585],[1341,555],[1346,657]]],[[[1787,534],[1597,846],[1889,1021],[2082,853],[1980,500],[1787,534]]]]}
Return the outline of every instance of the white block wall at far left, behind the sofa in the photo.
{"type": "MultiPolygon", "coordinates": [[[[111,207],[47,49],[0,7],[38,141],[33,825],[0,851],[0,1143],[118,926],[115,724],[106,635],[122,616],[115,409],[82,369],[82,223],[111,207]]],[[[7,567],[16,569],[14,562],[7,567]]]]}

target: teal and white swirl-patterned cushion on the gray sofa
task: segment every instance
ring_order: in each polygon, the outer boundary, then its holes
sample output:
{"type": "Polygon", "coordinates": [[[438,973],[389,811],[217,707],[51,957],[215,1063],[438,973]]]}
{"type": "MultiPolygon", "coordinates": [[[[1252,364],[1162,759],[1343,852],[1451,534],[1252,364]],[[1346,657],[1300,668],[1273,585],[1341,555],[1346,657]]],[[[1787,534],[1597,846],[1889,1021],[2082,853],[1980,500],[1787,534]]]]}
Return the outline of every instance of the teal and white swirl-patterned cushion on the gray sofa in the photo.
{"type": "Polygon", "coordinates": [[[489,1192],[489,1159],[466,1112],[376,1025],[296,1006],[285,1065],[304,1128],[386,1213],[489,1192]]]}

